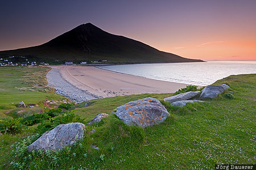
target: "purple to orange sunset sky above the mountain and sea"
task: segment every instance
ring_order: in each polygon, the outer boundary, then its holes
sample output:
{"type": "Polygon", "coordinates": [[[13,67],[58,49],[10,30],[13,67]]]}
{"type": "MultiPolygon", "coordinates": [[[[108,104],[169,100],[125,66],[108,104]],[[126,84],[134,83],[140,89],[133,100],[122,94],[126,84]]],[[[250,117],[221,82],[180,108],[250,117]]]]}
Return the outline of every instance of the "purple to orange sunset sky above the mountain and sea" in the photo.
{"type": "Polygon", "coordinates": [[[255,0],[1,0],[0,23],[0,50],[92,23],[181,57],[256,60],[255,0]]]}

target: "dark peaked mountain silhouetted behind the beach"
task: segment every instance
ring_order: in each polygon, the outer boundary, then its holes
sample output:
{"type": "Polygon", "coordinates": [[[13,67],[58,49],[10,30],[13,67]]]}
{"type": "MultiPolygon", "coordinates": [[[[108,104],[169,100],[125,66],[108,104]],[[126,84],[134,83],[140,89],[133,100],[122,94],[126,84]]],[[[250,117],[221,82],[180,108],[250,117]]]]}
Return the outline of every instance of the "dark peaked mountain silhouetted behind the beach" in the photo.
{"type": "Polygon", "coordinates": [[[36,61],[92,61],[109,63],[201,62],[162,52],[142,42],[105,32],[91,23],[81,24],[45,44],[5,50],[1,56],[27,56],[36,61]]]}

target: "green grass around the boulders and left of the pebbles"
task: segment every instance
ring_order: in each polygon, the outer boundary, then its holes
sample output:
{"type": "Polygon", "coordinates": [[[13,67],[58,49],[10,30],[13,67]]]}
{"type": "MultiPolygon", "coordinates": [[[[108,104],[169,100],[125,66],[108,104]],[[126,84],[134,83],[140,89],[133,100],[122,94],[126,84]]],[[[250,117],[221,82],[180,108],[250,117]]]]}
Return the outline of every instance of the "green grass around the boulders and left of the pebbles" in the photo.
{"type": "MultiPolygon", "coordinates": [[[[43,87],[46,82],[42,83],[42,86],[34,86],[40,84],[47,72],[46,67],[23,68],[22,71],[16,67],[0,69],[2,117],[17,116],[5,113],[18,109],[15,104],[20,100],[38,104],[38,108],[44,109],[43,101],[46,98],[59,101],[64,99],[49,92],[51,90],[45,90],[43,87]],[[38,73],[42,71],[42,78],[37,78],[37,75],[40,75],[38,73]],[[35,74],[29,76],[33,86],[22,80],[28,73],[35,74]],[[43,88],[45,92],[35,90],[36,87],[43,88]]],[[[38,135],[34,135],[38,125],[28,126],[22,133],[2,134],[0,167],[213,169],[216,163],[255,164],[256,75],[232,75],[214,84],[222,83],[231,87],[229,91],[233,91],[234,99],[229,99],[223,94],[205,103],[189,103],[183,108],[177,108],[163,101],[164,97],[172,94],[143,94],[91,100],[86,108],[82,107],[84,103],[74,105],[70,110],[75,109],[75,114],[84,118],[84,122],[88,122],[98,113],[108,113],[110,116],[94,126],[86,126],[85,138],[81,142],[59,152],[26,151],[26,146],[38,138],[38,135]],[[112,113],[119,105],[148,96],[159,99],[170,112],[171,116],[162,124],[145,129],[129,127],[112,113]],[[90,133],[92,128],[96,130],[93,134],[90,133]],[[30,137],[31,135],[34,136],[30,137]],[[92,145],[98,146],[99,150],[92,148],[92,145]]]]}

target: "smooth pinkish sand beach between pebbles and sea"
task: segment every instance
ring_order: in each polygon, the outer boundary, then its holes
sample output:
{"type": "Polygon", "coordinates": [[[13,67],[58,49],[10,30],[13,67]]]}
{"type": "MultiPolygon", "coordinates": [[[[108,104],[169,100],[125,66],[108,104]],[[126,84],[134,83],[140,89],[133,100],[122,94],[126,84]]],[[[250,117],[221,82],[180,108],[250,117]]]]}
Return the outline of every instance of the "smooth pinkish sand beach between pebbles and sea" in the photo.
{"type": "Polygon", "coordinates": [[[77,88],[102,97],[172,93],[188,85],[115,73],[91,66],[51,67],[59,69],[61,76],[77,88]]]}

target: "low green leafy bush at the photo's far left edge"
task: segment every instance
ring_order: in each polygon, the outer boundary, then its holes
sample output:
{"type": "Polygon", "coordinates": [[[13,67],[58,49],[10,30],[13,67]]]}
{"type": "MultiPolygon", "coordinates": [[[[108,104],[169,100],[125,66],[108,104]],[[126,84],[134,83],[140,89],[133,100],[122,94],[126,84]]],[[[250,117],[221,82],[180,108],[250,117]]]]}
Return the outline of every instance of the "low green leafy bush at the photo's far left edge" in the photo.
{"type": "Polygon", "coordinates": [[[3,133],[20,133],[24,129],[24,125],[21,124],[22,118],[14,118],[13,120],[0,120],[0,132],[3,133]]]}

